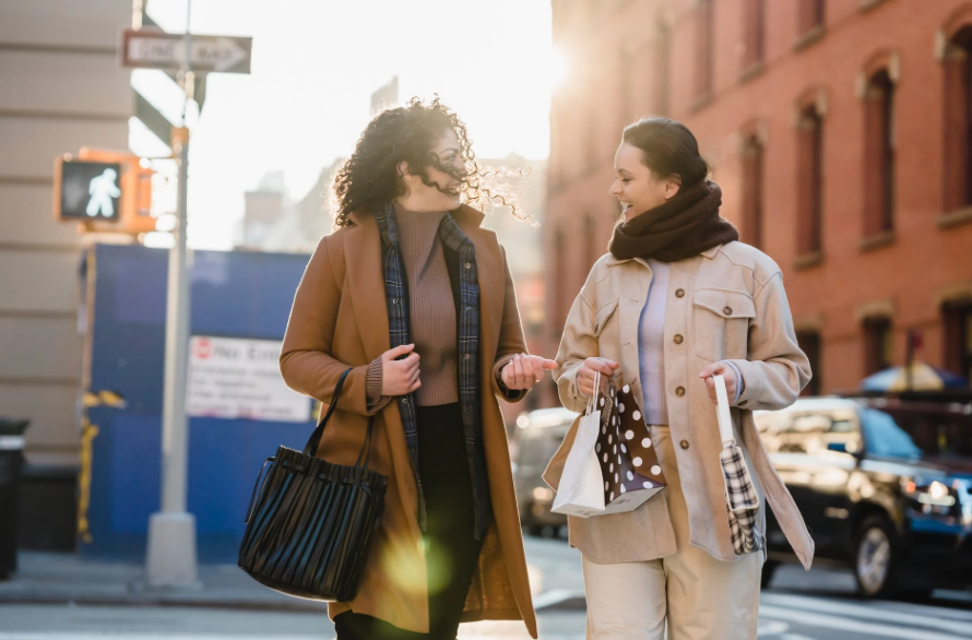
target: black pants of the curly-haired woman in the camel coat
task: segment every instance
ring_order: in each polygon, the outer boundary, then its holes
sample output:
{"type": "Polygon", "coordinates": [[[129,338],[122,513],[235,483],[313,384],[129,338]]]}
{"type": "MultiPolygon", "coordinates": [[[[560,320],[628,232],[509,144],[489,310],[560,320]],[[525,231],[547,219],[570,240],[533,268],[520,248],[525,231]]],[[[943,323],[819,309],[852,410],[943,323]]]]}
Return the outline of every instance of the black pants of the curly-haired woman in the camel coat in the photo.
{"type": "Polygon", "coordinates": [[[406,631],[364,614],[334,618],[337,640],[454,640],[482,541],[473,537],[473,484],[458,403],[419,406],[418,473],[425,491],[423,536],[429,632],[406,631]]]}

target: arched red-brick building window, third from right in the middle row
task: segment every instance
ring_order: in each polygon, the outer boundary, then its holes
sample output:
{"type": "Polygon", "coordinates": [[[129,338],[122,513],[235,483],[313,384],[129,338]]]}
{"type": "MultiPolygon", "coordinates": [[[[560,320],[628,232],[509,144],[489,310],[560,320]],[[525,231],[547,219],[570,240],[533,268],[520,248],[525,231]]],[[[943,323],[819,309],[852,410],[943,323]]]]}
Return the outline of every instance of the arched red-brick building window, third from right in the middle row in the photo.
{"type": "Polygon", "coordinates": [[[816,105],[801,111],[796,141],[797,251],[819,253],[823,235],[823,118],[816,105]]]}

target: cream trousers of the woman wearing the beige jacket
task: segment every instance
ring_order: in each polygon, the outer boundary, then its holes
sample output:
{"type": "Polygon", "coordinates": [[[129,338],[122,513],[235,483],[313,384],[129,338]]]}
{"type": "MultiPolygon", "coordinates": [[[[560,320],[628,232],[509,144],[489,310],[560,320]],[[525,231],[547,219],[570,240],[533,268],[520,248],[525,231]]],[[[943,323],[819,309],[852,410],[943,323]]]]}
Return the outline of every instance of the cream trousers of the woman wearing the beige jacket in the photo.
{"type": "Polygon", "coordinates": [[[651,432],[668,483],[678,550],[647,562],[597,565],[584,558],[588,640],[663,640],[666,623],[667,640],[754,640],[762,554],[727,562],[689,545],[672,435],[657,425],[651,432]]]}

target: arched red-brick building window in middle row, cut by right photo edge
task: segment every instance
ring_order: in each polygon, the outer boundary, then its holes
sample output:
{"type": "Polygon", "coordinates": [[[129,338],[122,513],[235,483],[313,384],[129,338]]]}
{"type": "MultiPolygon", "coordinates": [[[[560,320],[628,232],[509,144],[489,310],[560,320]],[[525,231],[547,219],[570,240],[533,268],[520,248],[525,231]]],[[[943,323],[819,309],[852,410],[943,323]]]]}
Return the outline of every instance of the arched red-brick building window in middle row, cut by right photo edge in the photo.
{"type": "Polygon", "coordinates": [[[972,205],[972,26],[948,44],[945,75],[944,210],[972,205]]]}

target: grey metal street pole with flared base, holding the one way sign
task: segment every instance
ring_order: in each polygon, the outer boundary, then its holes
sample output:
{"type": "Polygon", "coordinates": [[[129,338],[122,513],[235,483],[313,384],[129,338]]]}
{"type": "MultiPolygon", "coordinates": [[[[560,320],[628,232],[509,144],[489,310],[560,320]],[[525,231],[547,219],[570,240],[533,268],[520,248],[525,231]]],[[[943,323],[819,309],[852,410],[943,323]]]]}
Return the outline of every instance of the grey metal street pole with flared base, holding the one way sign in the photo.
{"type": "MultiPolygon", "coordinates": [[[[192,2],[189,0],[189,7],[192,2]]],[[[187,12],[189,8],[187,8],[187,12]]],[[[189,352],[189,269],[186,249],[189,203],[189,130],[186,106],[194,84],[189,51],[189,19],[186,19],[186,57],[182,129],[173,151],[179,156],[179,206],[175,246],[169,250],[166,303],[165,387],[162,417],[162,511],[149,520],[145,561],[146,582],[153,586],[194,586],[197,581],[195,519],[186,509],[188,471],[188,423],[186,378],[189,352]]]]}

